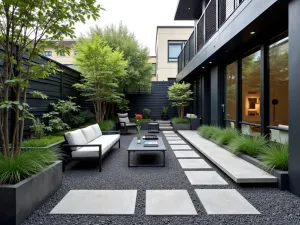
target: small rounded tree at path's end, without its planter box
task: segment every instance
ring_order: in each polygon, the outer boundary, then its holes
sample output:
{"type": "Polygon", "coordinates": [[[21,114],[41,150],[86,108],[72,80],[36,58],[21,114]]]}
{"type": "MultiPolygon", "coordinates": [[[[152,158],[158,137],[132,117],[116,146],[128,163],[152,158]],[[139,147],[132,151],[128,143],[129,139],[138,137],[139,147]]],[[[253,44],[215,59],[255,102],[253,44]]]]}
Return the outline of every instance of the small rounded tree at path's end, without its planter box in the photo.
{"type": "Polygon", "coordinates": [[[178,108],[178,115],[180,118],[184,116],[184,107],[189,105],[193,99],[191,95],[193,92],[190,90],[191,84],[187,83],[174,83],[169,87],[168,97],[173,101],[172,106],[178,108]]]}

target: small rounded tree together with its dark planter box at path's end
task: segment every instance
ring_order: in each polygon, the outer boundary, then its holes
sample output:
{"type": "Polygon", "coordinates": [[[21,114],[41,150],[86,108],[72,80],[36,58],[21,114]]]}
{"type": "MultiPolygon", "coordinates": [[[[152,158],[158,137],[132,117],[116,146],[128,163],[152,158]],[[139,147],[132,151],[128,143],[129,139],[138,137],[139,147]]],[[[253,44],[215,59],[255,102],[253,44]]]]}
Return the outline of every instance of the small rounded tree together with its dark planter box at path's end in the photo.
{"type": "Polygon", "coordinates": [[[184,108],[189,105],[193,99],[191,95],[193,92],[190,90],[191,84],[187,83],[174,83],[169,87],[168,98],[172,101],[172,106],[178,109],[178,118],[172,119],[172,126],[174,130],[190,130],[190,122],[188,119],[183,118],[184,108]]]}

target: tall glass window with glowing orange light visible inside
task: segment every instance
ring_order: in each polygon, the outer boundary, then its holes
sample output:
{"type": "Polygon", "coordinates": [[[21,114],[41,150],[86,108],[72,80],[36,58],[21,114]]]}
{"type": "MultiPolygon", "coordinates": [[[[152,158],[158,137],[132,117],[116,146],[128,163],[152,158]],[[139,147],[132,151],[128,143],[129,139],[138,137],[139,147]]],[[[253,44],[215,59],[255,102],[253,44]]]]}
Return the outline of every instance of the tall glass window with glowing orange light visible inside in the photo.
{"type": "MultiPolygon", "coordinates": [[[[257,51],[242,60],[242,120],[258,125],[260,124],[260,59],[261,52],[257,51]]],[[[260,128],[251,127],[247,133],[251,133],[250,131],[255,135],[260,132],[260,128]]]]}

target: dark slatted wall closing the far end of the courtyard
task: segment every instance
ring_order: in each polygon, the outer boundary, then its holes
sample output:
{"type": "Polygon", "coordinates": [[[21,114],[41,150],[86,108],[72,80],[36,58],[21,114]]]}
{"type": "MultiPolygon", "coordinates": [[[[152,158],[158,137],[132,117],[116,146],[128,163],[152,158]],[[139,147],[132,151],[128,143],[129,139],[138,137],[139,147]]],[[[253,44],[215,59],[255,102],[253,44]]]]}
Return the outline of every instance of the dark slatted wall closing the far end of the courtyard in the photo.
{"type": "Polygon", "coordinates": [[[151,110],[151,118],[160,119],[162,108],[169,107],[169,117],[178,116],[176,108],[172,107],[168,100],[168,88],[173,85],[173,81],[154,81],[152,82],[151,94],[130,94],[126,98],[130,101],[129,115],[142,113],[144,108],[151,110]]]}

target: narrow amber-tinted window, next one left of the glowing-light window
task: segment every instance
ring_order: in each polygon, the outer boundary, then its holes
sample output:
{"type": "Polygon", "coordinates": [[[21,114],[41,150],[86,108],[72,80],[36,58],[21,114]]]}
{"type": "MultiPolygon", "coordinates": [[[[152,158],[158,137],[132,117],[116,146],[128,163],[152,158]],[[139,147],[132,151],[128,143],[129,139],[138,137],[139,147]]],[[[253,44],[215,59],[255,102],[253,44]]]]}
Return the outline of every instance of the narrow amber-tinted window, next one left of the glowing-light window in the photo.
{"type": "MultiPolygon", "coordinates": [[[[227,120],[236,120],[236,76],[237,65],[232,63],[226,67],[226,103],[225,112],[227,120]]],[[[230,127],[234,128],[235,123],[230,121],[230,127]]]]}

